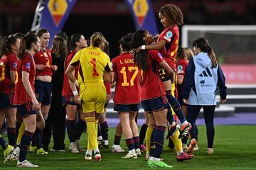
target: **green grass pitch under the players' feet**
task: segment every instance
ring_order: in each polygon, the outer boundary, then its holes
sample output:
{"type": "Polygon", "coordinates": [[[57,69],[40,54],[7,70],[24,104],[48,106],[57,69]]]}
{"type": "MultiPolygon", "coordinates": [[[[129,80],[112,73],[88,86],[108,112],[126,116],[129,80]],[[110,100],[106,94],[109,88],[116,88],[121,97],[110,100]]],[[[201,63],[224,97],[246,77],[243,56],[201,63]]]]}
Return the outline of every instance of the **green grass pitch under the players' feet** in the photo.
{"type": "MultiPolygon", "coordinates": [[[[256,126],[253,125],[216,125],[214,154],[207,154],[206,128],[199,125],[199,150],[194,152],[194,159],[177,162],[176,153],[163,152],[164,162],[174,166],[174,169],[256,169],[256,126]]],[[[3,135],[7,139],[6,135],[3,135]]],[[[86,134],[80,140],[81,147],[86,146],[86,134]]],[[[114,128],[110,128],[109,141],[112,147],[114,128]]],[[[166,146],[168,141],[164,142],[166,146]]],[[[27,159],[38,164],[38,169],[150,169],[144,161],[145,152],[138,159],[122,159],[126,153],[118,154],[110,149],[100,148],[102,161],[87,162],[85,154],[71,154],[68,150],[68,137],[65,137],[66,152],[48,152],[48,155],[37,155],[28,152],[27,159]]],[[[50,143],[51,148],[53,143],[50,143]]],[[[124,136],[121,147],[127,149],[124,136]]],[[[0,149],[0,160],[4,160],[4,152],[0,149]]],[[[0,169],[17,169],[16,161],[7,164],[0,163],[0,169]]]]}

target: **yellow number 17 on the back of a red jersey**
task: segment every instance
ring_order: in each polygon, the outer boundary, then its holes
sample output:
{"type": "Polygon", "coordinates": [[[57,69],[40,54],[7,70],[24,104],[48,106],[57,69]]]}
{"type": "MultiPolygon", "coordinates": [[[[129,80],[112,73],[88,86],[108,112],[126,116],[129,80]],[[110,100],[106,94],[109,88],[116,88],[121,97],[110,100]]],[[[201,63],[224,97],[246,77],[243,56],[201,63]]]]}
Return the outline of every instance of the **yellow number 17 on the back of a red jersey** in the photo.
{"type": "Polygon", "coordinates": [[[122,67],[120,73],[123,75],[124,82],[122,83],[122,86],[134,86],[134,79],[137,77],[137,74],[139,72],[138,67],[128,67],[128,71],[132,72],[134,70],[134,74],[132,74],[132,78],[130,81],[127,81],[127,69],[126,67],[122,67]]]}

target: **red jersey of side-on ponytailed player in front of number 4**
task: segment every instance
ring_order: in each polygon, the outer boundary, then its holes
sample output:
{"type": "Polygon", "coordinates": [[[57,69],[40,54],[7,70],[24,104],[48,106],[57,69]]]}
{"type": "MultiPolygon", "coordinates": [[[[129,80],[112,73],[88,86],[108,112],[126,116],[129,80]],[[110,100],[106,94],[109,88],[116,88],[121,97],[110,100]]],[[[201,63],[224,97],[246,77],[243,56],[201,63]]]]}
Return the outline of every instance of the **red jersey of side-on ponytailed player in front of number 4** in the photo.
{"type": "Polygon", "coordinates": [[[15,82],[15,93],[14,93],[14,105],[21,105],[23,103],[32,102],[31,97],[26,92],[25,87],[22,83],[22,72],[26,71],[29,73],[28,80],[30,82],[31,88],[35,91],[35,79],[36,79],[36,65],[33,60],[33,57],[29,52],[25,53],[23,60],[17,60],[17,72],[18,72],[18,81],[15,82]]]}

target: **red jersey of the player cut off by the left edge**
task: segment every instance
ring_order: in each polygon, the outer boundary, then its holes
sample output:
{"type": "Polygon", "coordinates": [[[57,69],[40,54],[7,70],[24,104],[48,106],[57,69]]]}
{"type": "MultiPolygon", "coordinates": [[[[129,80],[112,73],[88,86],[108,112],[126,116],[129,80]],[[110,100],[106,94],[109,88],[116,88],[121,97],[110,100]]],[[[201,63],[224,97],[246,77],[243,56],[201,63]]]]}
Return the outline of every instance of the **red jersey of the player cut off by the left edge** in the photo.
{"type": "Polygon", "coordinates": [[[16,71],[16,55],[14,52],[4,55],[0,59],[0,91],[10,94],[14,89],[11,88],[10,71],[16,71]]]}

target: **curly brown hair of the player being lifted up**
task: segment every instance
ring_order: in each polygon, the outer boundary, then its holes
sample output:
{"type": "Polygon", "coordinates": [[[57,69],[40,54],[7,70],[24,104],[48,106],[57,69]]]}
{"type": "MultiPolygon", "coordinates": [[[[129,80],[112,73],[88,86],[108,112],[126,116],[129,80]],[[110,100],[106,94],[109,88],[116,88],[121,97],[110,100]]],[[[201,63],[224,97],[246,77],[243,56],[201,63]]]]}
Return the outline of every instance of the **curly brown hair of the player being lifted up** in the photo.
{"type": "Polygon", "coordinates": [[[159,9],[159,13],[166,17],[171,25],[176,24],[177,26],[181,26],[181,24],[183,24],[183,13],[181,9],[174,4],[166,4],[165,6],[162,6],[159,9]]]}

